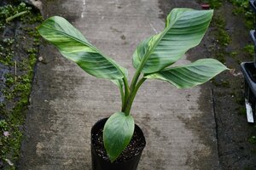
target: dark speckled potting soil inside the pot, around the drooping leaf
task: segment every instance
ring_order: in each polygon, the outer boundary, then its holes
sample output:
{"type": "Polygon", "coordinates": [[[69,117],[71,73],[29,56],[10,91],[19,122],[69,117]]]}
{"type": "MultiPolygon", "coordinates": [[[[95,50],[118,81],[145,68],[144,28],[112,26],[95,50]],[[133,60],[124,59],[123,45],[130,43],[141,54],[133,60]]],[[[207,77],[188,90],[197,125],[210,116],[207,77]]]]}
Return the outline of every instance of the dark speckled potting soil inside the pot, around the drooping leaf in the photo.
{"type": "MultiPolygon", "coordinates": [[[[100,129],[96,133],[92,133],[92,144],[94,145],[98,156],[101,156],[103,160],[110,162],[107,151],[105,150],[103,145],[102,136],[103,127],[100,127],[100,129]]],[[[136,127],[130,144],[128,144],[128,146],[125,148],[125,150],[121,153],[121,155],[115,162],[125,162],[135,156],[138,156],[140,153],[142,153],[145,145],[145,139],[143,138],[142,134],[138,132],[138,128],[136,127]]]]}

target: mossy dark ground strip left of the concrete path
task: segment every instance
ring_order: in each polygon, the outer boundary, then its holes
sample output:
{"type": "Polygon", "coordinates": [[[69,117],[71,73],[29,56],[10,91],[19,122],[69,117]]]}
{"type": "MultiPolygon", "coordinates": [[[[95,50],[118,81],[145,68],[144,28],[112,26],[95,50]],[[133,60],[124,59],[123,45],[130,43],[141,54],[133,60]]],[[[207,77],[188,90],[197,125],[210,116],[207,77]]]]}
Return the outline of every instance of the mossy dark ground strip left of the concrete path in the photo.
{"type": "MultiPolygon", "coordinates": [[[[15,1],[14,1],[15,2],[15,1]]],[[[16,169],[38,58],[38,11],[26,3],[0,7],[0,169],[16,169]]]]}

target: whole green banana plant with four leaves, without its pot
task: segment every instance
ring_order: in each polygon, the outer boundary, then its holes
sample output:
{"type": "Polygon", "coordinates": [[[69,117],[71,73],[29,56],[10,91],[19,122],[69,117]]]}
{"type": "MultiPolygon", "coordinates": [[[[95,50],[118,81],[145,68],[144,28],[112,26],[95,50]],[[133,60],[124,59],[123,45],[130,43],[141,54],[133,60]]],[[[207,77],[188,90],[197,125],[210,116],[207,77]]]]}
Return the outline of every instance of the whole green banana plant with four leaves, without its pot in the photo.
{"type": "Polygon", "coordinates": [[[122,106],[108,118],[103,129],[103,143],[111,162],[131,141],[135,128],[131,105],[143,82],[158,79],[177,88],[192,88],[228,70],[216,59],[198,59],[189,65],[172,66],[201,42],[212,14],[212,10],[172,9],[163,31],[138,44],[132,59],[136,72],[130,84],[128,71],[102,54],[64,18],[53,16],[39,26],[39,34],[55,45],[65,58],[91,76],[108,79],[118,86],[122,106]]]}

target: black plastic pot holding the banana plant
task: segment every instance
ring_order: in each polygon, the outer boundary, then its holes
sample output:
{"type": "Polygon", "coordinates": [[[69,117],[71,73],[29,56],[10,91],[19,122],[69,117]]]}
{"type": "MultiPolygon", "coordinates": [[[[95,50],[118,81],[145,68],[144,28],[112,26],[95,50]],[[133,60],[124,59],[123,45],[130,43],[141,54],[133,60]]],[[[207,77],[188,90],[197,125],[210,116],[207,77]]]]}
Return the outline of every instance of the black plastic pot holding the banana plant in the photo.
{"type": "MultiPolygon", "coordinates": [[[[108,118],[104,118],[98,122],[91,128],[90,135],[91,137],[96,134],[102,127],[104,127],[105,122],[107,122],[108,118]]],[[[143,135],[143,131],[140,127],[135,125],[135,131],[142,135],[143,144],[146,145],[146,141],[143,135]]],[[[93,144],[92,138],[90,138],[90,150],[91,150],[91,161],[92,161],[92,170],[137,170],[137,165],[142,156],[143,150],[137,156],[131,158],[130,160],[124,162],[109,162],[103,160],[101,156],[98,156],[96,153],[96,149],[93,144]]],[[[145,147],[144,145],[144,147],[145,147]]]]}

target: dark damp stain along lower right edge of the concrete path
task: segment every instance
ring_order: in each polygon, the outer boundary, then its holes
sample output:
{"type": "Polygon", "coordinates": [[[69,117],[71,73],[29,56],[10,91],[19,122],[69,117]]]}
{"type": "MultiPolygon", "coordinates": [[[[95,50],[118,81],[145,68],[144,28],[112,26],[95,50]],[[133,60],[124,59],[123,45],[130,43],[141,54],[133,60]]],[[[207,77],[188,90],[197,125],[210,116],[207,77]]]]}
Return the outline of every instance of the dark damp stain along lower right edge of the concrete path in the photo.
{"type": "MultiPolygon", "coordinates": [[[[191,167],[191,169],[219,169],[218,165],[210,165],[209,160],[212,156],[218,156],[218,146],[215,130],[215,122],[209,120],[208,114],[213,116],[213,110],[209,111],[209,108],[212,108],[212,101],[206,101],[211,95],[211,89],[205,87],[206,85],[201,87],[201,97],[198,99],[198,104],[200,105],[199,110],[200,114],[195,116],[184,118],[182,116],[178,116],[178,118],[184,123],[185,127],[192,131],[192,133],[200,139],[201,144],[203,145],[202,150],[195,150],[193,154],[190,154],[186,163],[191,167]],[[213,131],[213,132],[212,132],[213,131]]],[[[191,108],[191,112],[195,112],[193,108],[191,108]]],[[[194,143],[192,140],[191,143],[194,143]]],[[[218,157],[216,157],[218,160],[218,157]]]]}

